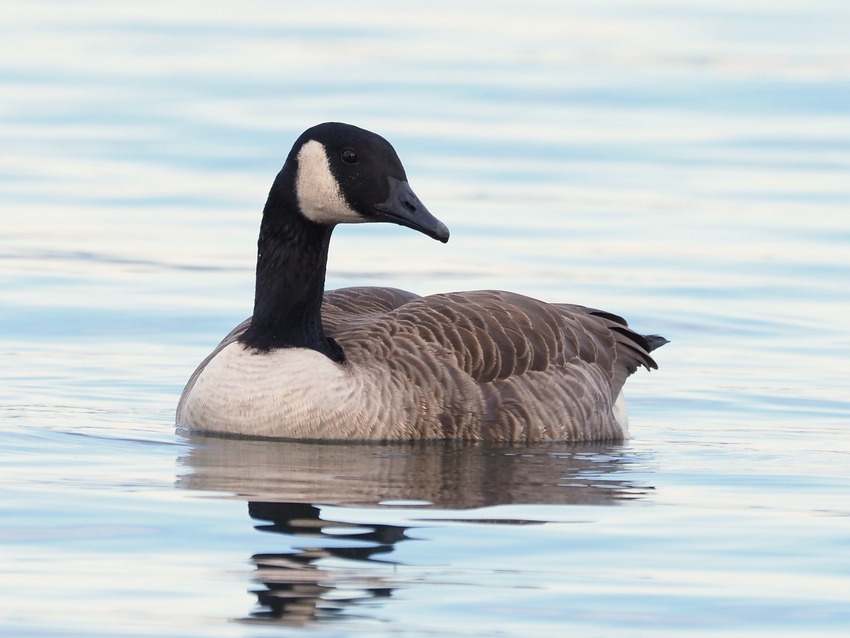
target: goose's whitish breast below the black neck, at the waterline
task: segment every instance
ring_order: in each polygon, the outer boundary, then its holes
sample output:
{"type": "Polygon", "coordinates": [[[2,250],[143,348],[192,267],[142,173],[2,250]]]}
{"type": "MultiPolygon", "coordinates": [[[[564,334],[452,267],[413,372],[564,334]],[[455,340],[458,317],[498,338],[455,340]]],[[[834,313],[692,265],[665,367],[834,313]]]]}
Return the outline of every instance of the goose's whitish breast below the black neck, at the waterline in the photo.
{"type": "Polygon", "coordinates": [[[254,352],[234,342],[204,368],[178,414],[180,427],[242,436],[362,436],[374,415],[363,380],[306,348],[254,352]]]}

